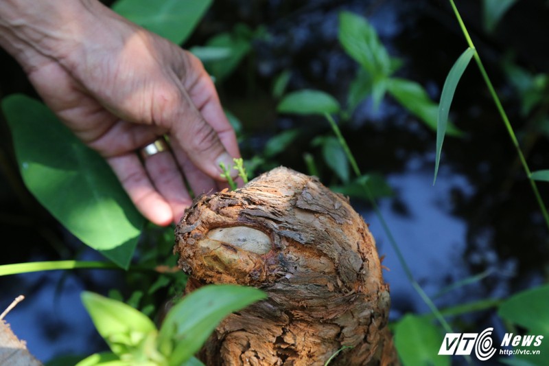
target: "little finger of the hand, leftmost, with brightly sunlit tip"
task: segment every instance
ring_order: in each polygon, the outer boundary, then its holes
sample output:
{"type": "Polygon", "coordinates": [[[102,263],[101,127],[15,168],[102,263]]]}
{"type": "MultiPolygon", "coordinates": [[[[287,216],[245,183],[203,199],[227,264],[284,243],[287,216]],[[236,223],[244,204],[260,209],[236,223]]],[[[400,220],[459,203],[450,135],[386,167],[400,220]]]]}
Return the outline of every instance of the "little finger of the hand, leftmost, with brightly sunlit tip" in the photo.
{"type": "Polygon", "coordinates": [[[170,225],[172,208],[154,189],[137,155],[110,157],[107,162],[141,214],[156,225],[170,225]]]}

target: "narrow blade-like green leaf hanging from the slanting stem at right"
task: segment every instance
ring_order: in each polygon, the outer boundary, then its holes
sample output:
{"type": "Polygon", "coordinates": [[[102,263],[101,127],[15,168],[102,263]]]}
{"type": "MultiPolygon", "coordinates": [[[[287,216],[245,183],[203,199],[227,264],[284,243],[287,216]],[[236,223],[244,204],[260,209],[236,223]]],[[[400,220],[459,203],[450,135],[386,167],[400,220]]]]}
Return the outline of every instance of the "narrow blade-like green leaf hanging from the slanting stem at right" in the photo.
{"type": "Polygon", "coordinates": [[[463,75],[463,71],[469,65],[469,61],[475,54],[474,48],[467,48],[461,56],[459,56],[452,69],[450,69],[448,76],[444,82],[444,87],[441,93],[441,103],[439,104],[439,117],[436,119],[436,158],[434,163],[434,178],[433,184],[436,181],[436,174],[439,172],[439,163],[441,161],[442,144],[444,141],[444,135],[448,124],[448,113],[450,111],[450,105],[454,99],[454,93],[458,82],[463,75]]]}

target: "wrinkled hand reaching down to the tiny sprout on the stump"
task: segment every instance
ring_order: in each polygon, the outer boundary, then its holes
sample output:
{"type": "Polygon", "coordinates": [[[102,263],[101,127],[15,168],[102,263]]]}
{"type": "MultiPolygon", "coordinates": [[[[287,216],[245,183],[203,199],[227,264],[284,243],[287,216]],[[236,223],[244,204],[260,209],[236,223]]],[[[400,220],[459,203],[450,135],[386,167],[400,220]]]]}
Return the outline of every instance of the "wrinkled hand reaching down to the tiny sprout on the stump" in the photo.
{"type": "Polygon", "coordinates": [[[226,186],[219,163],[240,157],[235,133],[189,52],[97,0],[2,0],[0,46],[155,224],[178,222],[191,203],[184,179],[196,194],[226,186]],[[141,163],[136,151],[162,135],[172,154],[141,163]]]}

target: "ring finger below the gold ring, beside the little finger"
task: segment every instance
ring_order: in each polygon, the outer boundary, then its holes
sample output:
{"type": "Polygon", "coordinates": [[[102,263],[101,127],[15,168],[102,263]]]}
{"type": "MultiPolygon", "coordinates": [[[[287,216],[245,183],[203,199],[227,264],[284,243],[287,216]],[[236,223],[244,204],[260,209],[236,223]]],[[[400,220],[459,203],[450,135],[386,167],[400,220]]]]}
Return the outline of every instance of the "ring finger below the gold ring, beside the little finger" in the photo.
{"type": "Polygon", "coordinates": [[[146,157],[143,163],[154,187],[170,205],[174,222],[179,222],[192,200],[174,156],[170,151],[163,151],[146,157]]]}

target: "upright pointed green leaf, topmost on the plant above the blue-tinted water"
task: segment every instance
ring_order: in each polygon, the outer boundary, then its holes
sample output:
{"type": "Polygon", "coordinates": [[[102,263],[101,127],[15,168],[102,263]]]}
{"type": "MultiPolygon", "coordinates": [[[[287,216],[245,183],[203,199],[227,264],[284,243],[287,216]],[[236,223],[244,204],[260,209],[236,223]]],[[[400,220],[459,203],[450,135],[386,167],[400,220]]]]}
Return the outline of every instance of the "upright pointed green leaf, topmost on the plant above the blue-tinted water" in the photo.
{"type": "Polygon", "coordinates": [[[384,45],[370,23],[351,12],[339,14],[339,41],[349,56],[375,78],[390,76],[393,69],[384,45]]]}

